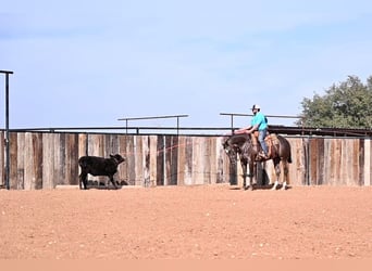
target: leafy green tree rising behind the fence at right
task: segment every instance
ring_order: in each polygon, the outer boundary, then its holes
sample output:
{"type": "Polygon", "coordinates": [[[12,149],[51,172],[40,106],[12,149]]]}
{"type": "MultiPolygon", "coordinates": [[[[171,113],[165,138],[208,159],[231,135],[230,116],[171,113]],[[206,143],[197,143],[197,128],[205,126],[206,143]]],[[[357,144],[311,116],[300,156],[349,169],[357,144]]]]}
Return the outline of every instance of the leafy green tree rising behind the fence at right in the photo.
{"type": "Polygon", "coordinates": [[[372,129],[372,76],[363,85],[357,76],[333,85],[325,95],[314,94],[301,102],[297,125],[328,128],[372,129]]]}

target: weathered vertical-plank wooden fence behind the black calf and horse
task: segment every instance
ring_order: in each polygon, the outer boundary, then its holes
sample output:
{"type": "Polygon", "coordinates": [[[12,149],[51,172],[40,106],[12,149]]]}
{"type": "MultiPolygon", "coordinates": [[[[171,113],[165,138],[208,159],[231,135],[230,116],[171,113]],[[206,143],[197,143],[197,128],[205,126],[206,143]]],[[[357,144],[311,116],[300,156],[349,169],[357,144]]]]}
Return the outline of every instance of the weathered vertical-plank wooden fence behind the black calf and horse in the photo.
{"type": "MultiPolygon", "coordinates": [[[[371,139],[287,139],[293,154],[290,185],[371,185],[371,139]]],[[[236,173],[222,149],[222,140],[212,136],[11,132],[10,188],[38,190],[78,184],[79,156],[108,157],[111,153],[126,157],[115,178],[129,185],[240,183],[240,166],[236,173]]],[[[0,150],[4,150],[4,132],[0,132],[0,150]]],[[[4,165],[3,153],[1,186],[5,180],[4,165]]],[[[274,180],[271,162],[263,165],[263,172],[274,180]]]]}

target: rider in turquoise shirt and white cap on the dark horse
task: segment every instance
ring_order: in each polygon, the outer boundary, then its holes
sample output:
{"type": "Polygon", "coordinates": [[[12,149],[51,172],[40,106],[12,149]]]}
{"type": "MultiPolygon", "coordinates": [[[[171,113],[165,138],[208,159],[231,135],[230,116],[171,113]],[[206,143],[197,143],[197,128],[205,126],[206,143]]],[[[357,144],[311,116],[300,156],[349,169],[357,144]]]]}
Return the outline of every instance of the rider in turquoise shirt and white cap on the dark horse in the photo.
{"type": "Polygon", "coordinates": [[[261,144],[263,153],[259,153],[259,156],[262,159],[269,159],[269,149],[266,145],[266,142],[264,142],[264,138],[266,137],[268,133],[268,119],[266,117],[261,113],[261,107],[258,104],[253,104],[252,106],[252,113],[253,117],[250,121],[250,126],[238,129],[235,131],[235,133],[252,133],[253,131],[258,130],[259,131],[259,142],[261,144]]]}

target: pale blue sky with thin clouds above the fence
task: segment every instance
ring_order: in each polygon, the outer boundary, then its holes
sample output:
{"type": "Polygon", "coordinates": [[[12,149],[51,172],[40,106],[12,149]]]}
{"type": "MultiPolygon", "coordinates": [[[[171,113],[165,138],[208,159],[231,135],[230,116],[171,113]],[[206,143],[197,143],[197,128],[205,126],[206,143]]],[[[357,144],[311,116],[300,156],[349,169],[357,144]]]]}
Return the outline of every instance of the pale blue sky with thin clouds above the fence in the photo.
{"type": "MultiPolygon", "coordinates": [[[[119,118],[298,116],[333,83],[372,75],[370,0],[1,0],[10,128],[116,127],[119,118]]],[[[4,127],[0,75],[0,127],[4,127]]],[[[269,118],[293,125],[296,119],[269,118]]],[[[234,126],[249,125],[236,117],[234,126]]],[[[175,119],[129,126],[175,126],[175,119]]]]}

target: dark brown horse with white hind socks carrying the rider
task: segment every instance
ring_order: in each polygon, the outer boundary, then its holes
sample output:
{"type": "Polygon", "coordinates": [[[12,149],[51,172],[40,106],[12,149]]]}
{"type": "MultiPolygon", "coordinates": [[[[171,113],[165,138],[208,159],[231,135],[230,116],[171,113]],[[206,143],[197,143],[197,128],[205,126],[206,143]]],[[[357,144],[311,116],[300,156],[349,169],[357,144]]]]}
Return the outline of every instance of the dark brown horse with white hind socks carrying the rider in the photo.
{"type": "MultiPolygon", "coordinates": [[[[280,134],[271,133],[266,137],[269,142],[269,149],[271,152],[271,158],[274,164],[276,180],[272,190],[276,190],[280,184],[281,177],[281,162],[284,170],[284,182],[282,190],[287,189],[288,181],[288,164],[292,163],[290,144],[289,142],[280,134]],[[271,137],[271,138],[269,138],[271,137]]],[[[225,138],[223,147],[233,165],[237,163],[237,154],[239,155],[240,165],[243,168],[243,188],[244,190],[253,190],[253,177],[257,177],[257,163],[260,162],[258,153],[261,150],[260,143],[253,134],[240,133],[233,134],[225,138]],[[249,181],[246,186],[247,178],[247,165],[249,165],[249,181]]]]}

